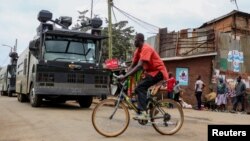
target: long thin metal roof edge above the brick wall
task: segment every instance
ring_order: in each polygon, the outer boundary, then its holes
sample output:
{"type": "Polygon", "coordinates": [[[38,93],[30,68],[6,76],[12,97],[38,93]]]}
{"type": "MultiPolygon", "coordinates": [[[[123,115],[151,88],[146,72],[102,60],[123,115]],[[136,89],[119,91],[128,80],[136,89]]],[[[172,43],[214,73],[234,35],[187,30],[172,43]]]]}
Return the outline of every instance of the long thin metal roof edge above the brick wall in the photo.
{"type": "Polygon", "coordinates": [[[165,58],[161,58],[161,59],[162,59],[162,61],[173,61],[173,60],[184,60],[184,59],[192,59],[192,58],[216,56],[216,55],[217,55],[217,52],[211,52],[211,53],[206,53],[206,54],[197,54],[197,55],[190,55],[190,56],[165,57],[165,58]]]}

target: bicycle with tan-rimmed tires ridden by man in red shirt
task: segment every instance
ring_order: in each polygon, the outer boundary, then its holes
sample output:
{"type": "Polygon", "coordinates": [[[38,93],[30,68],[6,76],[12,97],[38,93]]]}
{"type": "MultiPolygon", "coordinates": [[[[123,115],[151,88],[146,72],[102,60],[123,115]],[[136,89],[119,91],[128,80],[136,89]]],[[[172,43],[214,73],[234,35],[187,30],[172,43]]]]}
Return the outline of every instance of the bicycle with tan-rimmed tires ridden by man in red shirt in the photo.
{"type": "MultiPolygon", "coordinates": [[[[114,75],[115,78],[117,76],[114,75]]],[[[114,99],[105,99],[97,104],[92,113],[92,124],[95,130],[106,137],[121,135],[130,122],[129,109],[138,113],[136,105],[125,92],[125,82],[118,82],[120,92],[114,99]]],[[[139,124],[151,123],[153,128],[162,135],[177,133],[184,122],[184,114],[179,103],[171,99],[157,100],[150,90],[147,92],[147,113],[150,118],[138,120],[139,124]],[[171,105],[171,106],[170,106],[171,105]]]]}

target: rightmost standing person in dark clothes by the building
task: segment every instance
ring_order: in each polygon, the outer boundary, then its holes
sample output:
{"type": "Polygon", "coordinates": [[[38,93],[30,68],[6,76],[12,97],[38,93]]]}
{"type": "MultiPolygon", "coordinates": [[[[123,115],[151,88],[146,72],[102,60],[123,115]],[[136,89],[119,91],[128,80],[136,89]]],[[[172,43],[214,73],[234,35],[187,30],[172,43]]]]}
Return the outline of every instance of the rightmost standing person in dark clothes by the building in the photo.
{"type": "Polygon", "coordinates": [[[233,103],[233,110],[232,113],[235,113],[237,110],[238,103],[241,103],[241,112],[245,111],[245,104],[244,104],[244,97],[246,94],[246,84],[242,82],[241,76],[238,76],[237,83],[235,86],[235,97],[233,103]]]}

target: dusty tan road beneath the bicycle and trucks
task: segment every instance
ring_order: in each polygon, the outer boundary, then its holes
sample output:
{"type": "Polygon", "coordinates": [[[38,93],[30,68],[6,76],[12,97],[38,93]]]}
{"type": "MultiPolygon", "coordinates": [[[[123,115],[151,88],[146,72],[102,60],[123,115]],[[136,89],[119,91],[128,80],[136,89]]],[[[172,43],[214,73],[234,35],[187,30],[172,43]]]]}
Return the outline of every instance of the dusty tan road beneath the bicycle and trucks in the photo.
{"type": "Polygon", "coordinates": [[[184,109],[185,122],[175,135],[163,136],[151,126],[131,120],[116,138],[99,135],[91,123],[89,109],[77,103],[50,104],[32,108],[16,97],[0,96],[0,141],[206,141],[208,124],[250,124],[250,115],[184,109]]]}

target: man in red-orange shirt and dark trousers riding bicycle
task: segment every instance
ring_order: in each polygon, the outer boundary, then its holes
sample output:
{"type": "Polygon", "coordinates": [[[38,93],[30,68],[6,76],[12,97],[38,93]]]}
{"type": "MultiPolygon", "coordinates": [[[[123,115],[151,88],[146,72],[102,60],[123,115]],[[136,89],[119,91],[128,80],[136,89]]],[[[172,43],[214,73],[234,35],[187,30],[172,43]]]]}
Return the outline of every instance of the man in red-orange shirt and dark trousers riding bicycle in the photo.
{"type": "Polygon", "coordinates": [[[144,71],[144,76],[137,84],[135,93],[138,94],[138,116],[136,119],[147,119],[147,90],[150,86],[158,83],[161,80],[168,79],[168,72],[161,60],[159,54],[149,45],[144,43],[144,35],[138,33],[135,36],[134,45],[136,50],[134,52],[132,64],[127,73],[118,77],[119,80],[124,80],[128,76],[133,75],[141,68],[144,71]]]}

